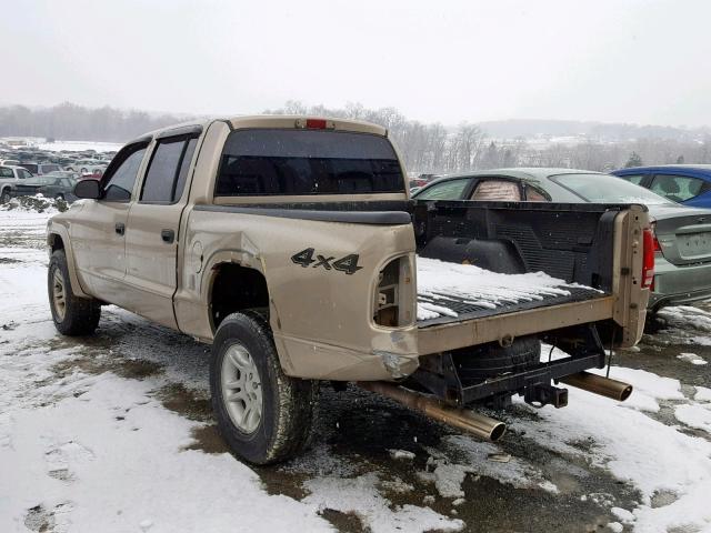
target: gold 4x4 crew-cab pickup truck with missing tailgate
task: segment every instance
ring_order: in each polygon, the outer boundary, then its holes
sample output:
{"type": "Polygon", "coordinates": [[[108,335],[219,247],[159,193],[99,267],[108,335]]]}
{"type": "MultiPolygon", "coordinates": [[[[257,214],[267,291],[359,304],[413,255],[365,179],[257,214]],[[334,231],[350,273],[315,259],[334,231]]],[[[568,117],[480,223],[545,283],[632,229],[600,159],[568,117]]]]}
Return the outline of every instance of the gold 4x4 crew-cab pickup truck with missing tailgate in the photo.
{"type": "Polygon", "coordinates": [[[641,205],[413,202],[388,131],[239,117],[146,134],[48,224],[57,329],[114,304],[212,344],[212,403],[239,456],[310,434],[320,381],[385,394],[488,439],[470,410],[560,382],[624,399],[604,368],[642,332],[653,243],[641,205]],[[418,278],[421,279],[420,283],[418,278]],[[569,356],[541,358],[541,342],[569,356]]]}

